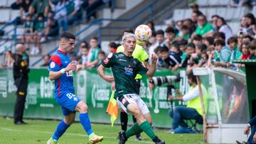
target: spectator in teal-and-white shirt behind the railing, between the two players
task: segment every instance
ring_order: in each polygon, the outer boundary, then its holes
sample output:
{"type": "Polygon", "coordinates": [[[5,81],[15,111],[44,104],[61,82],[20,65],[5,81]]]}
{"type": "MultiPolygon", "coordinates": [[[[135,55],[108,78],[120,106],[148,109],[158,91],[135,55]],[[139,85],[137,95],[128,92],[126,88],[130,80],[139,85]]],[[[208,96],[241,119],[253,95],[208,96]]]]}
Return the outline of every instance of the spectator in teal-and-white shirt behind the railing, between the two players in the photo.
{"type": "Polygon", "coordinates": [[[98,40],[97,37],[92,37],[90,39],[90,50],[88,54],[88,65],[87,67],[91,67],[92,65],[96,65],[99,62],[99,57],[97,53],[100,51],[98,47],[98,40]]]}

